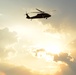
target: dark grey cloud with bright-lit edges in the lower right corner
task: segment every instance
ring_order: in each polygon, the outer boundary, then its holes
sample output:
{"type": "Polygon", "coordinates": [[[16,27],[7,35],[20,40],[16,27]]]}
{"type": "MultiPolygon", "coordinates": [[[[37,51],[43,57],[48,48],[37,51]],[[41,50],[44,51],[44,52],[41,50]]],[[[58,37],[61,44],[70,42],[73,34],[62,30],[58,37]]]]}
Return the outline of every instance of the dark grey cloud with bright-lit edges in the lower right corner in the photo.
{"type": "MultiPolygon", "coordinates": [[[[76,74],[76,60],[68,53],[60,53],[54,56],[54,61],[64,62],[68,66],[60,65],[62,75],[75,75],[76,74]]],[[[59,73],[59,72],[58,72],[59,73]]]]}

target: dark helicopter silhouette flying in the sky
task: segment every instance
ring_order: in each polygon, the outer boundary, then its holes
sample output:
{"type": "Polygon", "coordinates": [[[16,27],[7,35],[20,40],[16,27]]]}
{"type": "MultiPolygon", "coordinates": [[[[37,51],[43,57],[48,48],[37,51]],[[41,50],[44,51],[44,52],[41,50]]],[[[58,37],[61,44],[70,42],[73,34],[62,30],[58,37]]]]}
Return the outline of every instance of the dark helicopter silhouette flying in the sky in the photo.
{"type": "Polygon", "coordinates": [[[40,18],[46,18],[47,19],[47,18],[51,17],[50,14],[45,13],[44,11],[41,11],[39,9],[36,9],[36,10],[38,10],[39,12],[32,12],[32,13],[38,13],[37,15],[30,17],[28,15],[28,13],[26,13],[26,18],[27,19],[40,19],[40,18]]]}

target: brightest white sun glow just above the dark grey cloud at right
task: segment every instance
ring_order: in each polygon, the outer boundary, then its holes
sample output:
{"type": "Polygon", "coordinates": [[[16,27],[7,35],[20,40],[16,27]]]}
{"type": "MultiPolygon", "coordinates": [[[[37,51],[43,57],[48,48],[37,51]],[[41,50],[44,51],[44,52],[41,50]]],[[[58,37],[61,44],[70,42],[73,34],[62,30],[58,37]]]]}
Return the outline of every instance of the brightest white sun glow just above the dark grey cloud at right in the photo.
{"type": "Polygon", "coordinates": [[[51,54],[59,54],[60,52],[64,51],[64,43],[63,41],[59,40],[52,40],[51,42],[41,43],[34,46],[37,49],[43,48],[47,53],[51,54]]]}

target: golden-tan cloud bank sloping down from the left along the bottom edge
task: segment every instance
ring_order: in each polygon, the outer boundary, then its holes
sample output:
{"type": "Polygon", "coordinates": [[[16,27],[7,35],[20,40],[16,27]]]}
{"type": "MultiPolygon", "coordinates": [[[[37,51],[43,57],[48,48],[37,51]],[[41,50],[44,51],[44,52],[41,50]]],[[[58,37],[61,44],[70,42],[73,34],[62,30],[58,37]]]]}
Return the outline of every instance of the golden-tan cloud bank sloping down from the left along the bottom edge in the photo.
{"type": "Polygon", "coordinates": [[[5,75],[50,75],[32,71],[24,66],[16,66],[8,63],[0,63],[0,72],[5,75]]]}

